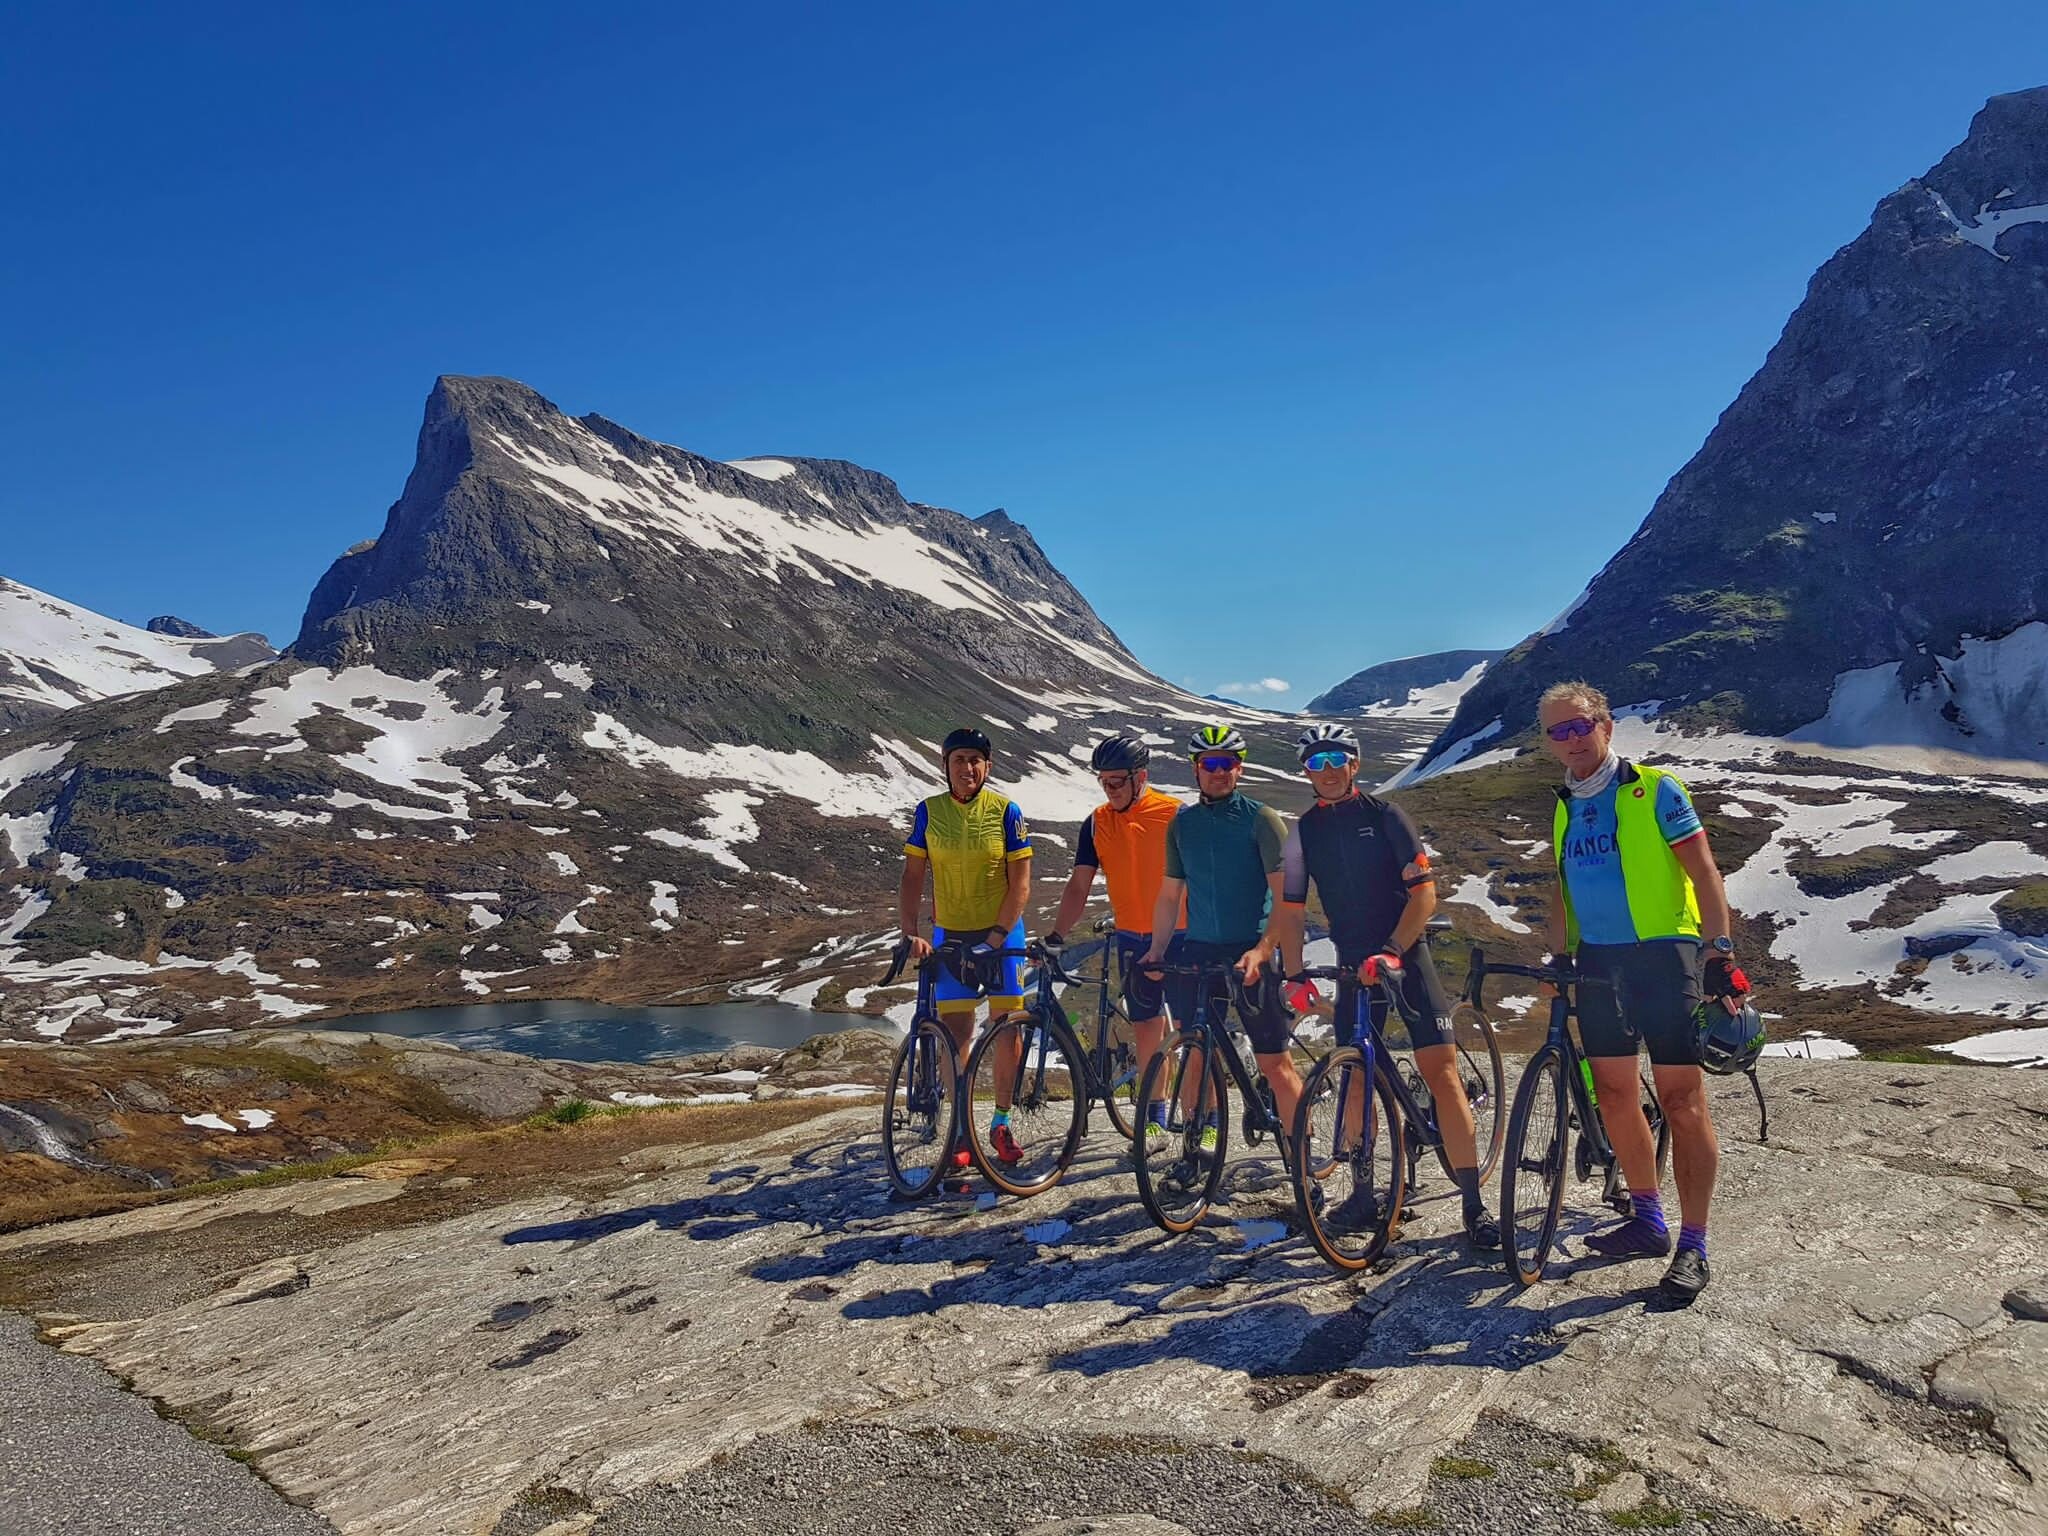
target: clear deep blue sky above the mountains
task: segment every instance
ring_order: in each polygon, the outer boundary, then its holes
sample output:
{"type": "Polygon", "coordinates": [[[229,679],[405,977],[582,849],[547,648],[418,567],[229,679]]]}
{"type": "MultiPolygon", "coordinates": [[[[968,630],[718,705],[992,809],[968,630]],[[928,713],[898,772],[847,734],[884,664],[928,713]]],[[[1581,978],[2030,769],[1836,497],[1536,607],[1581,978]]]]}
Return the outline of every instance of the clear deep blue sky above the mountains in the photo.
{"type": "Polygon", "coordinates": [[[1634,530],[2038,4],[31,6],[0,573],[289,639],[440,373],[1028,522],[1298,702],[1634,530]]]}

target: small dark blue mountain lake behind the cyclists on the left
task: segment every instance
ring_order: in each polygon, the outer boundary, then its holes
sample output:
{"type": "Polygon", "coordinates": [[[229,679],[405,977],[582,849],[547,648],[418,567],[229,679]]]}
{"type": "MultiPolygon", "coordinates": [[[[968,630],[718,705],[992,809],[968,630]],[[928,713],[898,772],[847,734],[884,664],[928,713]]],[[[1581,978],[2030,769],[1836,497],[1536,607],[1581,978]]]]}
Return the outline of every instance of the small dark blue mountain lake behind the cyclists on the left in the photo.
{"type": "Polygon", "coordinates": [[[397,1014],[356,1014],[328,1028],[446,1040],[467,1051],[518,1051],[553,1061],[653,1061],[733,1044],[786,1051],[813,1034],[834,1034],[883,1020],[854,1014],[813,1014],[774,1001],[696,1004],[694,1008],[614,1008],[561,999],[408,1008],[397,1014]]]}

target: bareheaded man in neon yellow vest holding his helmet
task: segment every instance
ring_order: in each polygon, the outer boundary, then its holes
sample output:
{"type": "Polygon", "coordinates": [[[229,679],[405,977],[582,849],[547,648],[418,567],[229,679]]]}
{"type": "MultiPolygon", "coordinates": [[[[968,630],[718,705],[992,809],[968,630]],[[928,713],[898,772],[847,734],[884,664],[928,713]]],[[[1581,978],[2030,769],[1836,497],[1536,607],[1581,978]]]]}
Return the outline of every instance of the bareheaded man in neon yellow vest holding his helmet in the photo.
{"type": "Polygon", "coordinates": [[[1657,1143],[1636,1092],[1636,1053],[1649,1047],[1671,1124],[1681,1221],[1663,1288],[1692,1300],[1708,1282],[1706,1210],[1720,1167],[1700,1071],[1700,1010],[1735,1012],[1749,989],[1735,969],[1729,897],[1686,786],[1675,774],[1616,756],[1604,692],[1561,682],[1544,692],[1536,717],[1544,745],[1565,766],[1552,815],[1559,893],[1550,950],[1577,963],[1579,1038],[1634,1200],[1634,1214],[1593,1233],[1587,1247],[1616,1260],[1671,1253],[1657,1143]]]}

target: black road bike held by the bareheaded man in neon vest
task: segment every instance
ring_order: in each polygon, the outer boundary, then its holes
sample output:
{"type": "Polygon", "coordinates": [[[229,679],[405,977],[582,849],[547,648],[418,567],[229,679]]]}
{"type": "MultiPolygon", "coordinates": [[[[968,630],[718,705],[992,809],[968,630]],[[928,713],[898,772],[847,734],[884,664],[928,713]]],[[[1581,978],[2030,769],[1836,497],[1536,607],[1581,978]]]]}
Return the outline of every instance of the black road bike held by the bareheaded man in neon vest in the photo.
{"type": "MultiPolygon", "coordinates": [[[[1522,1067],[1516,1104],[1507,1114],[1507,1157],[1501,1165],[1501,1249],[1507,1274],[1518,1284],[1542,1280],[1544,1264],[1556,1245],[1556,1227],[1565,1210],[1565,1174],[1579,1180],[1599,1174],[1599,1198],[1628,1214],[1628,1180],[1608,1128],[1599,1120],[1599,1096],[1593,1090],[1593,1069],[1585,1061],[1579,1036],[1567,1028],[1577,1014],[1577,987],[1606,985],[1579,977],[1577,971],[1554,965],[1493,965],[1485,950],[1473,948],[1473,971],[1464,997],[1483,1008],[1481,991],[1487,977],[1526,977],[1556,989],[1550,999],[1550,1034],[1522,1067]],[[1579,1133],[1573,1143],[1573,1130],[1579,1133]]],[[[1636,1069],[1642,1087],[1642,1114],[1657,1139],[1657,1178],[1671,1163],[1671,1126],[1657,1102],[1657,1083],[1642,1067],[1636,1069]]]]}

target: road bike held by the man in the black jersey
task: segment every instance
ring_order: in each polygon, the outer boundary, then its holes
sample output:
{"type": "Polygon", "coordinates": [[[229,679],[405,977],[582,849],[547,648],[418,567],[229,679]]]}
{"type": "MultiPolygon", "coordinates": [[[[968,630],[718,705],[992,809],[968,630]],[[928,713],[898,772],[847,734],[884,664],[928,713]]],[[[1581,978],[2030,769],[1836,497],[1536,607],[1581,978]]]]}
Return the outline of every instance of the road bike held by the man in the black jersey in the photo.
{"type": "MultiPolygon", "coordinates": [[[[1356,983],[1354,971],[1311,967],[1290,981],[1339,981],[1356,1014],[1337,1020],[1343,1044],[1309,1073],[1294,1112],[1294,1206],[1315,1251],[1348,1274],[1370,1268],[1386,1249],[1401,1210],[1415,1186],[1415,1163],[1434,1149],[1446,1178],[1454,1178],[1436,1100],[1413,1059],[1399,1057],[1372,1020],[1372,995],[1413,1030],[1415,1014],[1399,987],[1399,971],[1376,971],[1356,983]],[[1350,1028],[1346,1028],[1350,1026],[1350,1028]]],[[[1501,1104],[1505,1077],[1501,1047],[1477,1004],[1460,999],[1448,1020],[1456,1049],[1458,1081],[1473,1106],[1479,1178],[1493,1174],[1501,1155],[1501,1104]]]]}

